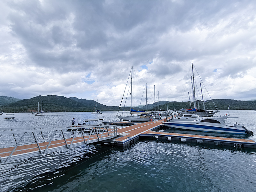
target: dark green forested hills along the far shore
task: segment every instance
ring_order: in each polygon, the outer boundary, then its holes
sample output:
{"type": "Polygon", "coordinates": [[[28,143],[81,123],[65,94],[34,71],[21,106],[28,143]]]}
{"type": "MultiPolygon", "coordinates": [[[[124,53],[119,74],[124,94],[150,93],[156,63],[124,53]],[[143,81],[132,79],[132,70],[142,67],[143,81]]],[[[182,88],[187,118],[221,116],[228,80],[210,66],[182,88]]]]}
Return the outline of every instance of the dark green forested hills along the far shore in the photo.
{"type": "MultiPolygon", "coordinates": [[[[230,106],[230,110],[248,110],[256,109],[256,100],[250,101],[239,101],[239,100],[229,100],[229,99],[213,99],[219,110],[227,110],[230,106]]],[[[31,99],[17,99],[12,97],[0,97],[1,108],[5,113],[15,113],[15,112],[31,112],[37,111],[39,102],[39,109],[41,110],[41,102],[43,102],[43,111],[49,112],[72,112],[72,111],[93,111],[96,105],[94,100],[78,99],[76,97],[64,97],[58,95],[47,95],[47,96],[37,96],[31,99]]],[[[212,100],[205,101],[206,109],[216,109],[212,103],[212,100]],[[208,104],[208,105],[207,105],[208,104]]],[[[158,110],[158,102],[153,104],[148,104],[148,106],[140,106],[140,108],[133,107],[134,110],[158,110]]],[[[182,108],[190,108],[189,101],[176,102],[168,101],[168,110],[180,110],[182,108]]],[[[200,108],[200,106],[199,106],[200,108]]],[[[201,106],[202,108],[202,106],[201,106]]],[[[101,111],[118,111],[118,106],[106,106],[98,102],[97,109],[101,111]]],[[[159,102],[159,109],[166,110],[166,101],[159,102]]],[[[119,110],[123,110],[121,107],[119,110]]],[[[124,107],[125,111],[130,111],[130,107],[124,107]]]]}

